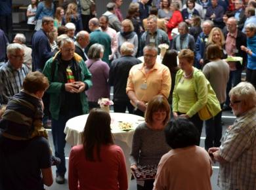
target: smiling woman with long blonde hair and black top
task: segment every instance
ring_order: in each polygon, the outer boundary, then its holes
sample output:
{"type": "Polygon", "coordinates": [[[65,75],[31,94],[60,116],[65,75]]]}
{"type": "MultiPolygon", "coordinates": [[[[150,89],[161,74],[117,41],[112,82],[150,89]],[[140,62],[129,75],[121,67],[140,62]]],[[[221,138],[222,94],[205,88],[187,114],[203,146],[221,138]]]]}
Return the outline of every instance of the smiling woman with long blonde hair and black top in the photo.
{"type": "MultiPolygon", "coordinates": [[[[226,51],[224,50],[224,44],[225,44],[224,35],[221,29],[218,27],[211,29],[205,49],[207,49],[207,47],[211,44],[215,44],[221,49],[221,59],[225,59],[227,57],[226,51]]],[[[203,56],[203,64],[205,65],[208,62],[209,60],[207,60],[206,51],[205,51],[205,54],[203,56]]]]}

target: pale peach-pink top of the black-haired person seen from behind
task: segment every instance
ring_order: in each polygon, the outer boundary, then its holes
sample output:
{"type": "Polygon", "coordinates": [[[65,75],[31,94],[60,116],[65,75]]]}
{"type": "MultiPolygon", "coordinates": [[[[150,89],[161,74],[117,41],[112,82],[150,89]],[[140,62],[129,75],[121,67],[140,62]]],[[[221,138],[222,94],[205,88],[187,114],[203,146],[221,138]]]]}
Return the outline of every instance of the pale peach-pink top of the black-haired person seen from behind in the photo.
{"type": "Polygon", "coordinates": [[[202,147],[172,149],[158,164],[154,190],[211,190],[211,159],[202,147]]]}

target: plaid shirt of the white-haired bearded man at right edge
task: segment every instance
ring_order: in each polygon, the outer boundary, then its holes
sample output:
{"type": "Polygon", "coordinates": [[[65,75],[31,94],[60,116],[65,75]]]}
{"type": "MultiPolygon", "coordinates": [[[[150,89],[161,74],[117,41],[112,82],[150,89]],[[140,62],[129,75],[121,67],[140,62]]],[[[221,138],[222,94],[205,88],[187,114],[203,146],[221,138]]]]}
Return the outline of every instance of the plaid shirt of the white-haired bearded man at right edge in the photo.
{"type": "Polygon", "coordinates": [[[220,165],[222,190],[256,189],[256,107],[238,117],[226,130],[220,155],[227,161],[220,165]]]}

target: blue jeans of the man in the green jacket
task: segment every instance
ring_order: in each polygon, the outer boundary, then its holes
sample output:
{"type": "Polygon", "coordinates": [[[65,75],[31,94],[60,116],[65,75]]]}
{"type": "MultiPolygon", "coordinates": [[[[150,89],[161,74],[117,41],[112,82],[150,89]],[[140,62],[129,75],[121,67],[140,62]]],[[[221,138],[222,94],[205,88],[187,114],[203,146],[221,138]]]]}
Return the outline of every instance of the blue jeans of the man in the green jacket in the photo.
{"type": "Polygon", "coordinates": [[[52,119],[52,134],[55,157],[58,157],[61,160],[61,163],[56,166],[56,175],[64,176],[66,173],[66,161],[64,151],[66,145],[66,134],[64,134],[64,128],[66,126],[66,122],[77,115],[81,115],[81,113],[72,110],[68,114],[60,114],[58,120],[52,119]]]}

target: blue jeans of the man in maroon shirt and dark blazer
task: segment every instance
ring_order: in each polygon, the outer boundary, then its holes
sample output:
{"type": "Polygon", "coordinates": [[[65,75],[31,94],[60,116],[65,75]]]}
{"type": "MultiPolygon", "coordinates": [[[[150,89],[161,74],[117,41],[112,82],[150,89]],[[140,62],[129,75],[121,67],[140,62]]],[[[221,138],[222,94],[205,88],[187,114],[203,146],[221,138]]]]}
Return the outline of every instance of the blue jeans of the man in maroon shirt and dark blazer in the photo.
{"type": "Polygon", "coordinates": [[[235,71],[229,72],[229,79],[228,83],[226,84],[226,106],[229,106],[230,104],[230,98],[228,96],[229,91],[231,90],[232,86],[238,85],[238,83],[241,82],[241,75],[242,75],[242,69],[237,69],[235,71]]]}

